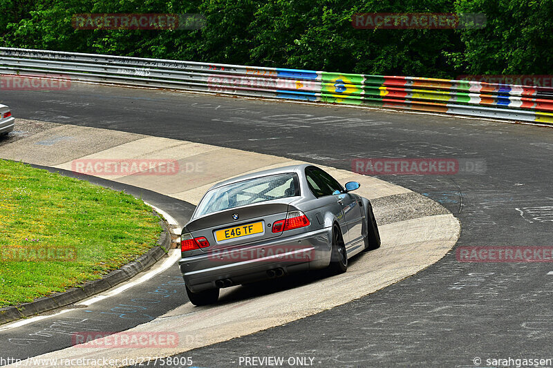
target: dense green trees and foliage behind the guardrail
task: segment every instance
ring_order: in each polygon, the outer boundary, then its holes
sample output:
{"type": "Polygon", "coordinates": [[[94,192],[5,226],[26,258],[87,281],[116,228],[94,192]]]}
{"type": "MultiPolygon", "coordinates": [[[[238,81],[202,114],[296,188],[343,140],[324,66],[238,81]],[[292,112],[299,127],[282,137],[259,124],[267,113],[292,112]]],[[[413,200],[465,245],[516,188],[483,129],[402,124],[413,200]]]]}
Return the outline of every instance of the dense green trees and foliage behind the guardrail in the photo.
{"type": "Polygon", "coordinates": [[[0,45],[214,63],[455,77],[549,74],[552,0],[3,0],[0,45]],[[75,30],[79,13],[200,13],[201,30],[75,30]],[[467,30],[358,30],[357,12],[483,12],[467,30]]]}

